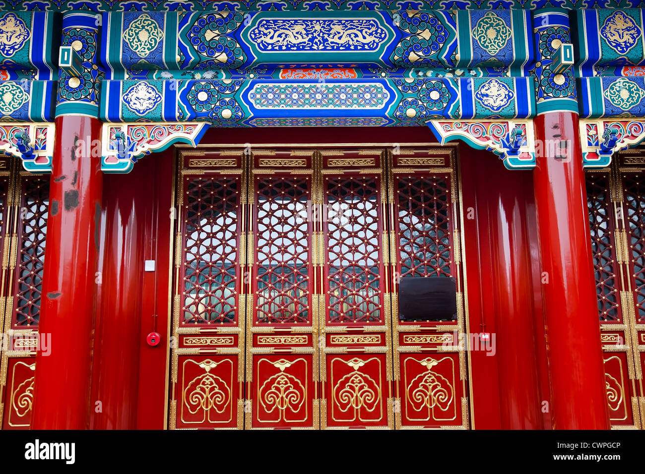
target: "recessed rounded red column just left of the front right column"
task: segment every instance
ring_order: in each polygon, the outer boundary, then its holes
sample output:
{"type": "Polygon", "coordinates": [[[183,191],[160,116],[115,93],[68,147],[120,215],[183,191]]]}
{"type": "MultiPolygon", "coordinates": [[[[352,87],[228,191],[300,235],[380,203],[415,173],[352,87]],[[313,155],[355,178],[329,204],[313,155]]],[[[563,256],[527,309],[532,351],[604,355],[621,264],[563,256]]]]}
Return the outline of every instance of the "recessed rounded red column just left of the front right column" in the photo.
{"type": "Polygon", "coordinates": [[[501,424],[506,430],[541,430],[544,420],[526,215],[531,174],[506,170],[493,156],[488,163],[484,179],[491,187],[488,209],[501,424]]]}

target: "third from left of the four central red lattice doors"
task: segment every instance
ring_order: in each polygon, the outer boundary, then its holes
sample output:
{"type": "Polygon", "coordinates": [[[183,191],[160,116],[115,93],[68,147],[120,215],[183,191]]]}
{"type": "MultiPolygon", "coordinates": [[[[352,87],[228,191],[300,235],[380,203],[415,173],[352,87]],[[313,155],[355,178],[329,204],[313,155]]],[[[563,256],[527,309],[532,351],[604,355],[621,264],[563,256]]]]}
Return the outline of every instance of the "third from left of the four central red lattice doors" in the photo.
{"type": "Polygon", "coordinates": [[[394,428],[385,150],[321,150],[323,428],[394,428]]]}

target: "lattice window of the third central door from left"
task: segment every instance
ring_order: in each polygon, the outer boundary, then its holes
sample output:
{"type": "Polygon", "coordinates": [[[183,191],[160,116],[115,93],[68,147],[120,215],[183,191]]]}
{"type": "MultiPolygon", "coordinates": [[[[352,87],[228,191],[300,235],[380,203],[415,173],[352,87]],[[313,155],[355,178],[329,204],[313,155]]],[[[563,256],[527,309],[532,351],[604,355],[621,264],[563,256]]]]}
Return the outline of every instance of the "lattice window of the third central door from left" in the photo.
{"type": "Polygon", "coordinates": [[[327,182],[328,321],[381,321],[381,199],[373,177],[327,182]]]}

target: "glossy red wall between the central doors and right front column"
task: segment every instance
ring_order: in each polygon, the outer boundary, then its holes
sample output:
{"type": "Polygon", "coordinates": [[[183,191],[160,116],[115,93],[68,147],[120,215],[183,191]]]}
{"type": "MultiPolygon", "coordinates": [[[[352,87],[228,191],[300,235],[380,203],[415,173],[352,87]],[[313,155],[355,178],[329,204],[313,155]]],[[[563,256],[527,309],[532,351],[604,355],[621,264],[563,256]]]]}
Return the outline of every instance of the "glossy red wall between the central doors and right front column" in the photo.
{"type": "Polygon", "coordinates": [[[491,333],[495,348],[470,352],[473,422],[542,429],[548,380],[535,324],[531,172],[506,170],[493,153],[462,145],[461,176],[470,332],[491,333]]]}

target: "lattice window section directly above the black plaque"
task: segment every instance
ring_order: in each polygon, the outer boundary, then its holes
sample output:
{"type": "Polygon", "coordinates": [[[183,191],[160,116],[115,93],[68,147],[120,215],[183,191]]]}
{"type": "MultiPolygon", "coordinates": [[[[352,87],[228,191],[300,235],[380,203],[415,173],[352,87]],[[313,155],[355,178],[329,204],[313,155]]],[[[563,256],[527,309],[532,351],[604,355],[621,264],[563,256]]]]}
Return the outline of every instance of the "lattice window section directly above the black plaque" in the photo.
{"type": "Polygon", "coordinates": [[[399,259],[401,277],[450,277],[450,178],[398,179],[399,259]]]}

